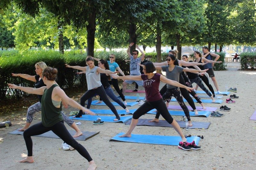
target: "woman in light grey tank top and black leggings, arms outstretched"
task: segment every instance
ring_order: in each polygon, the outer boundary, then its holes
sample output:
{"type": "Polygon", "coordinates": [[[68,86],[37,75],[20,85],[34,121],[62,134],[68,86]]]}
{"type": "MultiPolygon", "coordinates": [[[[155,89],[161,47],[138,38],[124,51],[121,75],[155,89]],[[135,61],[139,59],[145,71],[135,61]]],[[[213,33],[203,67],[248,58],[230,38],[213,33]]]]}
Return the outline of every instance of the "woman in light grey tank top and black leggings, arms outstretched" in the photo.
{"type": "MultiPolygon", "coordinates": [[[[116,115],[116,118],[114,119],[114,121],[120,120],[120,117],[116,111],[116,108],[108,100],[108,97],[104,90],[104,87],[100,82],[100,73],[115,74],[115,73],[118,73],[118,71],[113,72],[113,71],[109,71],[109,70],[103,70],[100,67],[95,66],[94,60],[92,59],[91,56],[87,56],[86,64],[88,65],[86,67],[70,66],[68,64],[65,64],[66,67],[68,67],[68,68],[82,70],[82,72],[80,72],[80,73],[86,74],[86,82],[87,82],[88,91],[85,92],[84,95],[81,97],[80,104],[84,107],[86,100],[88,100],[90,97],[93,97],[95,94],[98,94],[101,97],[101,99],[104,101],[104,103],[116,115]]],[[[82,117],[82,113],[83,113],[83,111],[79,110],[79,113],[74,117],[82,117]]]]}

